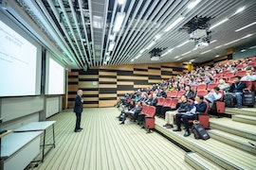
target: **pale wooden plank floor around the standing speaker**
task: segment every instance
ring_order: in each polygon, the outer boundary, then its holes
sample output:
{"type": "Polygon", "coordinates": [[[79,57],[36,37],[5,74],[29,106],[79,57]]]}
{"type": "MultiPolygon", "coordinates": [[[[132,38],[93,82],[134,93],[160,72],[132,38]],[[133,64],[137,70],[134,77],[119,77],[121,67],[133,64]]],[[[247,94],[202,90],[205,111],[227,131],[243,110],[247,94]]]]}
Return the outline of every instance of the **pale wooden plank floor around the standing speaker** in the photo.
{"type": "MultiPolygon", "coordinates": [[[[82,132],[75,133],[75,114],[64,110],[56,120],[56,148],[45,161],[31,169],[192,169],[185,151],[153,132],[146,134],[136,124],[119,125],[116,108],[85,109],[82,132]]],[[[49,129],[50,131],[50,129],[49,129]]],[[[50,140],[50,133],[47,139],[50,140]]]]}

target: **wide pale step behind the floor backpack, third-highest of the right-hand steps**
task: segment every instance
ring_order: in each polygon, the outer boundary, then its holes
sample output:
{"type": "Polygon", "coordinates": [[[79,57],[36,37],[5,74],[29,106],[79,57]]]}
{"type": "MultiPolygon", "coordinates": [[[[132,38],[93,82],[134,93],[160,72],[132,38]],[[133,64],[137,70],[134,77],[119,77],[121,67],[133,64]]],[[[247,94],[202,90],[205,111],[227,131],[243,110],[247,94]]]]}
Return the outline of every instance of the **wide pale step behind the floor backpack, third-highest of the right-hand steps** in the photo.
{"type": "Polygon", "coordinates": [[[235,122],[227,117],[210,118],[210,128],[219,129],[256,141],[256,126],[241,122],[235,122]]]}

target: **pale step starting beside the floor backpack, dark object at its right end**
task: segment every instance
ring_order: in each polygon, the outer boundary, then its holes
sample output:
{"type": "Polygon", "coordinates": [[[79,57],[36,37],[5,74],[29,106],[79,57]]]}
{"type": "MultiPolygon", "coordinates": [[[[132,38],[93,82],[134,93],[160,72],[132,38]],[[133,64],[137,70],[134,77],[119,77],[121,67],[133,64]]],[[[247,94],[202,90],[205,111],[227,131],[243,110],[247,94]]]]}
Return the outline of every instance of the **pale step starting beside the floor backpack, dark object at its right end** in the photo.
{"type": "Polygon", "coordinates": [[[256,142],[225,131],[210,129],[210,137],[223,143],[233,145],[249,153],[256,154],[256,142]],[[253,145],[255,144],[255,145],[253,145]]]}

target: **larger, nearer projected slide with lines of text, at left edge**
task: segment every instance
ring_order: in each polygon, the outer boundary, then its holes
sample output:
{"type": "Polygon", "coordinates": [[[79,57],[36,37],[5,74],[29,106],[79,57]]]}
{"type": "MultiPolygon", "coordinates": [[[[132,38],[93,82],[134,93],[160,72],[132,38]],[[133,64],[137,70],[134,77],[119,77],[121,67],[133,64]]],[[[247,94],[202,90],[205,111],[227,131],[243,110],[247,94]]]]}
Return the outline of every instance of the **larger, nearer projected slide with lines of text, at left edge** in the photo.
{"type": "Polygon", "coordinates": [[[37,47],[0,21],[0,96],[36,94],[37,47]]]}

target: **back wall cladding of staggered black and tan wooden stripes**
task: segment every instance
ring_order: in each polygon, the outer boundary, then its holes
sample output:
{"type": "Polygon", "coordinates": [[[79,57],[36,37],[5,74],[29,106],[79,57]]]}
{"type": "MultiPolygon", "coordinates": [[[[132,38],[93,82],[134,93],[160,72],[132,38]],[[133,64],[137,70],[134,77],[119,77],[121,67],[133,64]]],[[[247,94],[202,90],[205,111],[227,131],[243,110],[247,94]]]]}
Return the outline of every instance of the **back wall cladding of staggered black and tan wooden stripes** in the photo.
{"type": "Polygon", "coordinates": [[[78,89],[83,91],[83,107],[112,107],[124,93],[147,88],[188,71],[186,63],[114,65],[71,70],[68,73],[68,108],[73,108],[78,89]]]}

